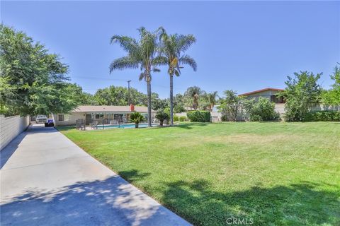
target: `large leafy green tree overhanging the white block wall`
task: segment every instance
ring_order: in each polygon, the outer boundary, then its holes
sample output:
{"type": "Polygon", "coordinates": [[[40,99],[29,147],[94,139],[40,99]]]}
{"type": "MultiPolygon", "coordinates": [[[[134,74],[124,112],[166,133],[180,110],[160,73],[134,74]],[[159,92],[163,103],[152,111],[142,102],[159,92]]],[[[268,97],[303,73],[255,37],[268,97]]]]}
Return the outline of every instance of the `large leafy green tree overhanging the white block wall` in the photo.
{"type": "Polygon", "coordinates": [[[0,25],[1,114],[66,113],[77,107],[69,93],[68,66],[24,32],[0,25]]]}

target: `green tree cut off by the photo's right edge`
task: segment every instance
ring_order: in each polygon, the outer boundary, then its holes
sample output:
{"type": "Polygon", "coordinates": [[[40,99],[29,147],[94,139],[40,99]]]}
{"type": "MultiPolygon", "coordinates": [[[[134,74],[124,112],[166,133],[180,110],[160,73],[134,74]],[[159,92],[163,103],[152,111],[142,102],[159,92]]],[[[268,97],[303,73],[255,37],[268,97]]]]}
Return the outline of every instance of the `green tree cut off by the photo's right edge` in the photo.
{"type": "Polygon", "coordinates": [[[324,90],[322,102],[329,106],[340,106],[340,69],[338,65],[335,66],[331,79],[334,80],[334,84],[331,85],[332,88],[330,90],[324,90]]]}

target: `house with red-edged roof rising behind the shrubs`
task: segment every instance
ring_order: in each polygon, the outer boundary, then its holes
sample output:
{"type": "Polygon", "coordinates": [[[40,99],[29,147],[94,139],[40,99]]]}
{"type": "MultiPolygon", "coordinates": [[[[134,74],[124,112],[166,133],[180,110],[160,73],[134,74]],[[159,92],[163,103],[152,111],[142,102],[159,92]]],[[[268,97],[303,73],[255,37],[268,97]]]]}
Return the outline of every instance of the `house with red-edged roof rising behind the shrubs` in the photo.
{"type": "Polygon", "coordinates": [[[264,88],[261,90],[251,91],[249,93],[242,93],[239,96],[243,96],[248,100],[251,100],[253,98],[255,98],[255,100],[258,100],[259,97],[264,97],[268,98],[269,100],[271,100],[271,102],[274,102],[276,104],[283,104],[284,103],[283,97],[277,96],[278,93],[280,93],[281,91],[283,91],[283,89],[264,88]]]}

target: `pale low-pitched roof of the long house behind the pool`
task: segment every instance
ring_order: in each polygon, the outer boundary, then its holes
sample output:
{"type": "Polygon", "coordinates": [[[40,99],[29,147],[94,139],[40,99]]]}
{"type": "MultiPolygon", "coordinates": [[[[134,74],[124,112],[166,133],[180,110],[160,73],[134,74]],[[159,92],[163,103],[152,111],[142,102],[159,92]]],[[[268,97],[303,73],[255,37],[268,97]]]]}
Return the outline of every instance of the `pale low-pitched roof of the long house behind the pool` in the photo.
{"type": "MultiPolygon", "coordinates": [[[[72,112],[131,112],[130,106],[111,106],[111,105],[81,105],[72,112]]],[[[147,112],[147,107],[135,106],[135,112],[147,112]]]]}

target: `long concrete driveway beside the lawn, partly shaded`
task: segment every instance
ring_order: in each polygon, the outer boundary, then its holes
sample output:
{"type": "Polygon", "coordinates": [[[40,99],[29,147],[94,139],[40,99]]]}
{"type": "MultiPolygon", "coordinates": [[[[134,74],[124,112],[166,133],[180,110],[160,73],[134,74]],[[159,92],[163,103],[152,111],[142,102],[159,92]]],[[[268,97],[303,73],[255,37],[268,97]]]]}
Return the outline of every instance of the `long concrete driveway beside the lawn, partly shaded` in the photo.
{"type": "Polygon", "coordinates": [[[1,150],[0,176],[1,226],[189,225],[54,128],[1,150]]]}

